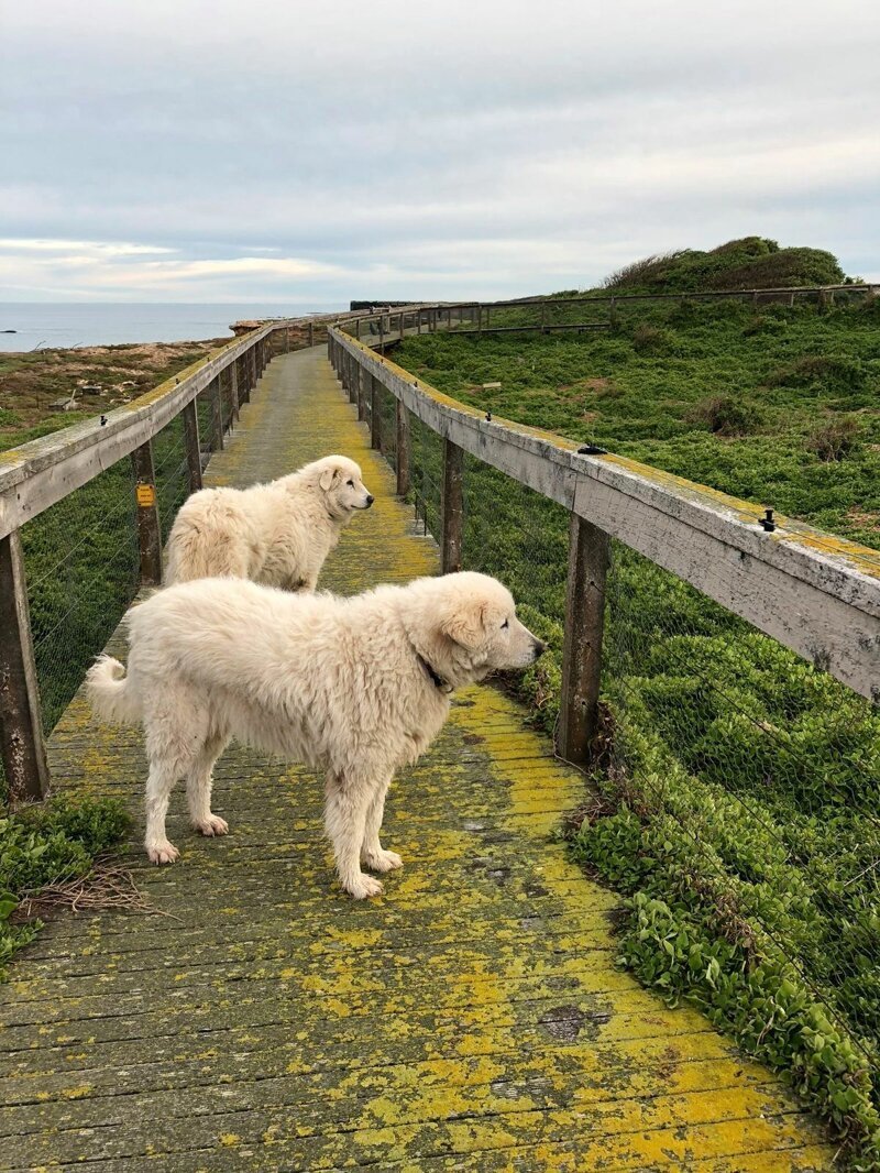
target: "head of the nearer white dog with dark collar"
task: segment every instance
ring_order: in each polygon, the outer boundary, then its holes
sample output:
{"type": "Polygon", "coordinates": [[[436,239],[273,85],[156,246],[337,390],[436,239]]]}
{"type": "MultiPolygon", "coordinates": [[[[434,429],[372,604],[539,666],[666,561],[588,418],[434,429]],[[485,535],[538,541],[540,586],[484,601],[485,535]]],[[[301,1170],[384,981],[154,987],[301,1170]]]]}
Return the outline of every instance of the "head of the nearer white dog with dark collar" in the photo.
{"type": "Polygon", "coordinates": [[[516,618],[513,596],[497,579],[466,570],[426,582],[422,613],[431,639],[427,655],[419,651],[451,684],[528,667],[544,651],[544,643],[516,618]]]}

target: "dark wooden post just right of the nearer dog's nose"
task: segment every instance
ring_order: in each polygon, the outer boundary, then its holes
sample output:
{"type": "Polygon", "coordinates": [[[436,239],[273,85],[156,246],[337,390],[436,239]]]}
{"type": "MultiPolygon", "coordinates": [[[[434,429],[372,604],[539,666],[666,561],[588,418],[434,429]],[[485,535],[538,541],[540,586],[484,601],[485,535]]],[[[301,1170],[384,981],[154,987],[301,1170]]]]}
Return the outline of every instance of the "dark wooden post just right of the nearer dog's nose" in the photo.
{"type": "Polygon", "coordinates": [[[589,762],[598,726],[610,544],[604,530],[571,514],[559,752],[577,765],[589,762]]]}

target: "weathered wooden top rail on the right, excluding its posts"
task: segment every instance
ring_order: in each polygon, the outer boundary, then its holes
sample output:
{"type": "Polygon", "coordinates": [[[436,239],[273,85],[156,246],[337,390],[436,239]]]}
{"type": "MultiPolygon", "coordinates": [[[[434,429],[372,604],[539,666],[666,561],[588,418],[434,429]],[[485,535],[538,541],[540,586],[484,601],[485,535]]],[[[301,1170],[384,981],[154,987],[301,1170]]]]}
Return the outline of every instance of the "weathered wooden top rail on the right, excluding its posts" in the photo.
{"type": "Polygon", "coordinates": [[[874,700],[880,552],[637,461],[581,455],[537,428],[485,419],[353,339],[373,378],[429,428],[647,555],[874,700]]]}

